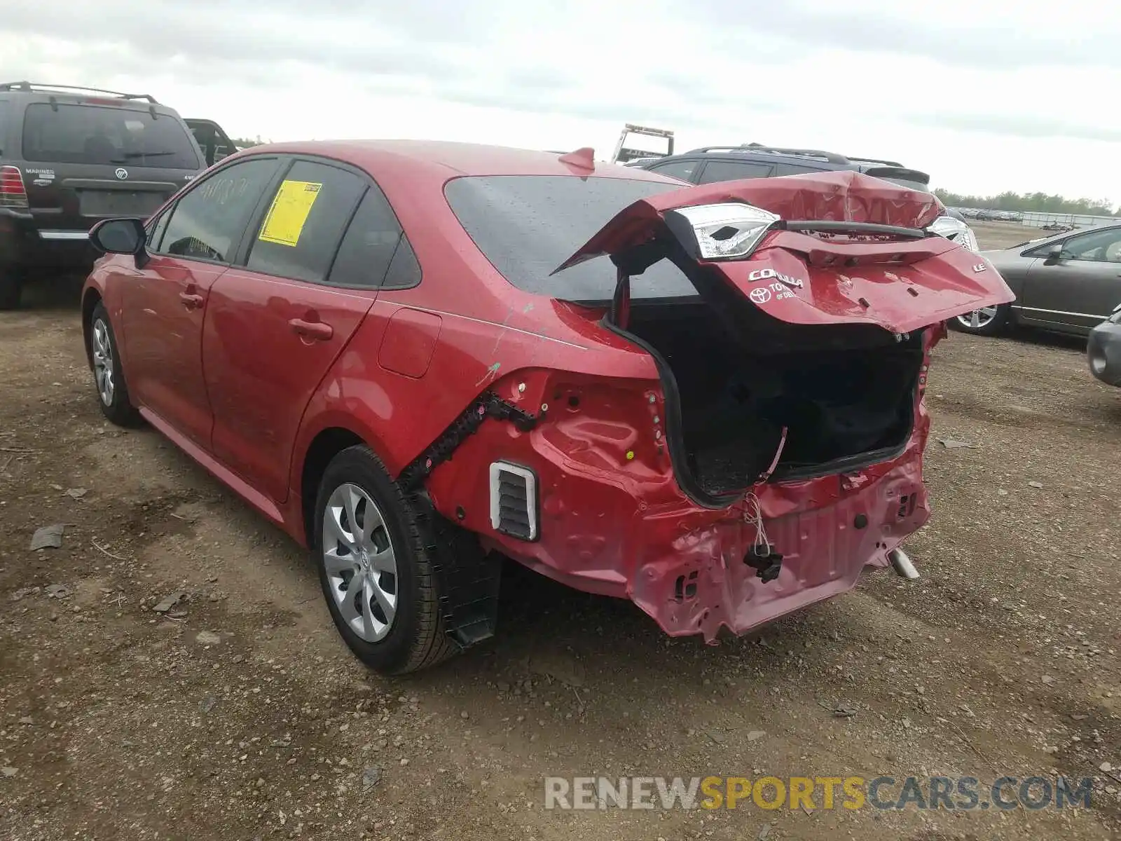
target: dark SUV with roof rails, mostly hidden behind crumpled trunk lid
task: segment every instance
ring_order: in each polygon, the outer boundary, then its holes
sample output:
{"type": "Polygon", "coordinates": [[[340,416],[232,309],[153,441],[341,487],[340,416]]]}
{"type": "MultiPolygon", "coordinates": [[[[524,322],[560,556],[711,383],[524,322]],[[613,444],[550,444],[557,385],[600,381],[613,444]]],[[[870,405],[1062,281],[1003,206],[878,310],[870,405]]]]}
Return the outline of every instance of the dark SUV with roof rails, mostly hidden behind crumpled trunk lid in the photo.
{"type": "MultiPolygon", "coordinates": [[[[852,169],[904,187],[920,190],[924,193],[930,192],[929,175],[918,169],[908,169],[896,160],[850,158],[818,149],[787,149],[761,144],[703,146],[680,155],[643,158],[637,165],[642,169],[670,175],[692,184],[852,169]]],[[[947,213],[954,219],[962,219],[957,211],[947,210],[947,213]]]]}

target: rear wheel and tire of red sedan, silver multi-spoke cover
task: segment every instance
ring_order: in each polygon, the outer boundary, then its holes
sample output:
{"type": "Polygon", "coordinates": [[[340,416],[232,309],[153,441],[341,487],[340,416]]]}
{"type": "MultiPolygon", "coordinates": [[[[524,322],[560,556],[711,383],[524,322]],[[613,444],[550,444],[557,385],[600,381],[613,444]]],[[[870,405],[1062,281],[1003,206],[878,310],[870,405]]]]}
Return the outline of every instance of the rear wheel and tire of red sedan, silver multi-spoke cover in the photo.
{"type": "Polygon", "coordinates": [[[331,618],[370,668],[406,674],[458,650],[416,512],[369,447],[343,450],[324,471],[313,547],[331,618]]]}

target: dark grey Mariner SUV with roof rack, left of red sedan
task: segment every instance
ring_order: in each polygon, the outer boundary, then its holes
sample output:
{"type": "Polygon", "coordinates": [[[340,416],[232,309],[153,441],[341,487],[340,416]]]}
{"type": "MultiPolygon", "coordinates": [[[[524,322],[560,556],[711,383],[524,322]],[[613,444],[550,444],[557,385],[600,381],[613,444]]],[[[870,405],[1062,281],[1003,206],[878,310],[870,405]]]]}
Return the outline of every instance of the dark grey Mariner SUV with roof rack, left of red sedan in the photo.
{"type": "Polygon", "coordinates": [[[147,94],[0,84],[0,309],[35,274],[89,271],[94,222],[150,214],[233,151],[147,94]]]}

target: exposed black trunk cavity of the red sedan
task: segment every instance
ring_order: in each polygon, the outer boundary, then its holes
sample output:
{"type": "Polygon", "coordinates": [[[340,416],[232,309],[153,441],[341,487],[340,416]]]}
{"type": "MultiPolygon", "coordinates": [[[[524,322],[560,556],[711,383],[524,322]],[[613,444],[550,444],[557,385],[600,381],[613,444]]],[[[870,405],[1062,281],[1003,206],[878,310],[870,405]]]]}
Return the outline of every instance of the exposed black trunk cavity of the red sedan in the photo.
{"type": "Polygon", "coordinates": [[[780,444],[771,477],[796,479],[884,461],[910,436],[921,333],[787,324],[697,299],[631,301],[622,332],[658,362],[675,470],[698,501],[758,481],[780,444]]]}

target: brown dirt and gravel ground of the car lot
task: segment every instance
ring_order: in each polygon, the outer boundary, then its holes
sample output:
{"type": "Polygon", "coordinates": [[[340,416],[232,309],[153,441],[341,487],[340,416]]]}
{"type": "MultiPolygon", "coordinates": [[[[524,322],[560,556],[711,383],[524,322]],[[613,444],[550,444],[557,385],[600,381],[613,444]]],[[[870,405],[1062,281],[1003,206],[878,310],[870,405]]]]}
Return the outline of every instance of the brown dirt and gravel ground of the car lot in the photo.
{"type": "MultiPolygon", "coordinates": [[[[1028,238],[1008,228],[983,244],[1028,238]]],[[[511,574],[493,643],[390,682],[345,650],[282,535],[155,432],[102,420],[75,292],[0,314],[0,839],[1121,831],[1121,391],[1080,342],[938,348],[919,581],[871,574],[708,648],[511,574]],[[62,548],[29,551],[49,524],[62,548]],[[601,774],[1095,787],[1090,810],[541,807],[544,776],[601,774]]]]}

